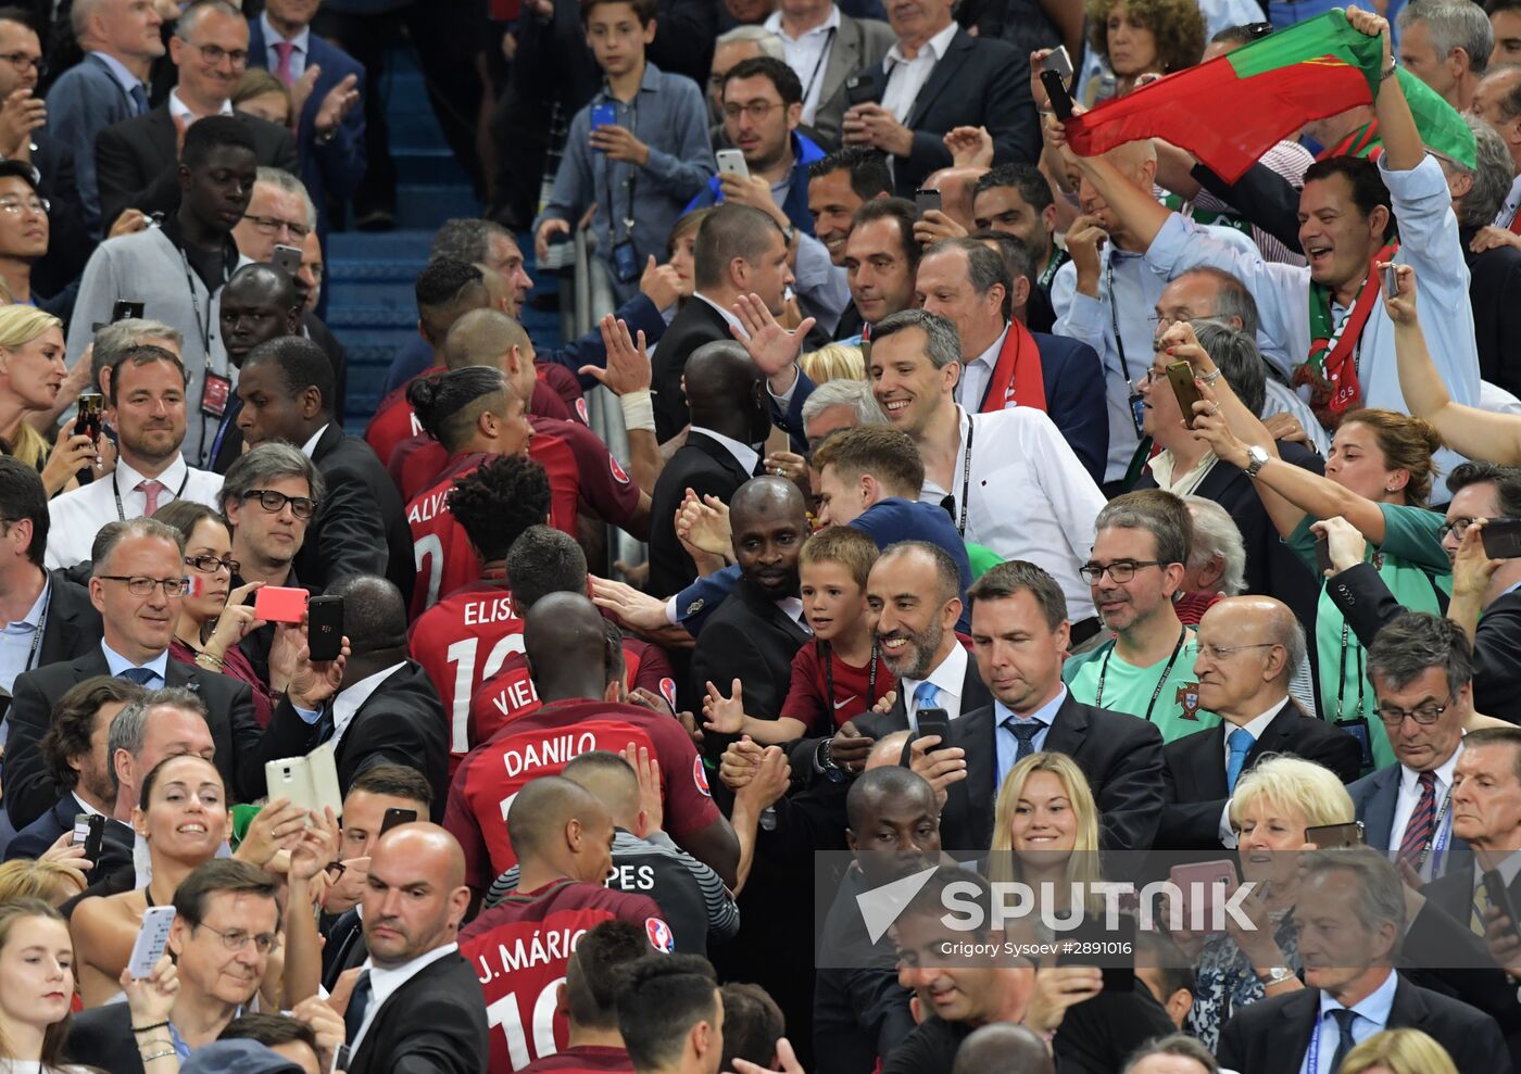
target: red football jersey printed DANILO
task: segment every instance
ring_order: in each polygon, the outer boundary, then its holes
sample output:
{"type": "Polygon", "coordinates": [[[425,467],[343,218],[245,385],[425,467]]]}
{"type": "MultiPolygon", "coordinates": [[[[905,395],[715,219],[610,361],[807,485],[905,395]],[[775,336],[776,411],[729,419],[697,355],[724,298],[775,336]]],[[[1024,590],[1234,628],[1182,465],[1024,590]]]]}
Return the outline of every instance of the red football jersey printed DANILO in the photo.
{"type": "Polygon", "coordinates": [[[631,742],[660,761],[665,828],[677,843],[718,820],[703,759],[672,717],[614,701],[555,701],[514,720],[472,750],[449,785],[444,828],[464,849],[465,882],[485,890],[517,861],[506,837],[506,814],[525,783],[560,774],[583,753],[622,753],[631,742]]]}

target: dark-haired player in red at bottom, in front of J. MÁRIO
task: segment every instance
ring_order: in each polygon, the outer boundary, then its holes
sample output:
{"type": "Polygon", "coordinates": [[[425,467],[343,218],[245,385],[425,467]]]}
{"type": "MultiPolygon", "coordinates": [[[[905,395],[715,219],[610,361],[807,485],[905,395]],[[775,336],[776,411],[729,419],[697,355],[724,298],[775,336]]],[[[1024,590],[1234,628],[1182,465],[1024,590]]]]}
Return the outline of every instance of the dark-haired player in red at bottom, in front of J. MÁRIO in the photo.
{"type": "Polygon", "coordinates": [[[529,1063],[523,1074],[633,1074],[618,1031],[619,968],[649,954],[648,929],[605,920],[581,937],[560,984],[560,1009],[570,1024],[569,1045],[529,1063]]]}

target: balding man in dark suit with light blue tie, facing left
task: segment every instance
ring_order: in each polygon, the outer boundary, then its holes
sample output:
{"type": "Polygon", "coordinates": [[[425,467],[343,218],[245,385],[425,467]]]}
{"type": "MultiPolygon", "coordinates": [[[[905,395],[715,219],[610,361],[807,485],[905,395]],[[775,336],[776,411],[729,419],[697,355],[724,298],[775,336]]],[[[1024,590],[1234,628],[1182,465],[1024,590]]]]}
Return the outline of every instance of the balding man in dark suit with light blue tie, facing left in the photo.
{"type": "Polygon", "coordinates": [[[1224,721],[1164,750],[1170,788],[1157,846],[1234,847],[1226,805],[1237,780],[1270,753],[1316,761],[1351,783],[1363,747],[1342,727],[1300,712],[1288,678],[1305,657],[1305,631],[1282,601],[1227,596],[1199,622],[1199,707],[1224,721]]]}

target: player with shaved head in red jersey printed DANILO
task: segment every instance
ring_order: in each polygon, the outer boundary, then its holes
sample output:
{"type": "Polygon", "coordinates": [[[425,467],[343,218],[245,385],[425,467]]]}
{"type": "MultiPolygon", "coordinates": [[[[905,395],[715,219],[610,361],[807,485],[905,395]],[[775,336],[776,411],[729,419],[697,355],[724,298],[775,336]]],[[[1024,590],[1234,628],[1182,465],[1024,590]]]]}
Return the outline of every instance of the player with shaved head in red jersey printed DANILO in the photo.
{"type": "Polygon", "coordinates": [[[739,844],[713,805],[703,761],[669,715],[624,703],[610,625],[580,593],[551,593],[529,608],[523,645],[543,707],[472,750],[449,786],[444,826],[465,850],[465,882],[476,891],[516,861],[502,817],[529,780],[557,774],[581,753],[621,753],[631,742],[660,762],[671,838],[733,884],[739,844]]]}

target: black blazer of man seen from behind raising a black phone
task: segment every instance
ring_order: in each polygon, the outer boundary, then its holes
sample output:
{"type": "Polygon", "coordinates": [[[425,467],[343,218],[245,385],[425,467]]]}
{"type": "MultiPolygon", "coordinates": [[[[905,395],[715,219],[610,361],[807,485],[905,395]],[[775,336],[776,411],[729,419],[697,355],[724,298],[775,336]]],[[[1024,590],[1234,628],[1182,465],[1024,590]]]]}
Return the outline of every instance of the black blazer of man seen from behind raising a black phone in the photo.
{"type": "MultiPolygon", "coordinates": [[[[301,720],[289,700],[280,701],[265,729],[265,753],[295,758],[318,745],[318,729],[301,720]]],[[[359,773],[374,765],[417,768],[433,788],[433,823],[443,821],[449,794],[449,718],[420,665],[406,660],[359,706],[338,741],[336,761],[344,794],[359,773]]]]}

